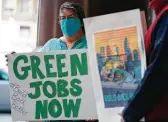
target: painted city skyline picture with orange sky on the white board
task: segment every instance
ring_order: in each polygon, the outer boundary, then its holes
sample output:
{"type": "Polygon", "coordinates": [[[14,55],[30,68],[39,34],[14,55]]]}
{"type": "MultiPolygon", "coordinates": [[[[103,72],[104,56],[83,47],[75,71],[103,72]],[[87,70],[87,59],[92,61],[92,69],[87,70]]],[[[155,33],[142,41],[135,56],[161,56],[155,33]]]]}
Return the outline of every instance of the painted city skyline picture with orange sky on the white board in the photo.
{"type": "Polygon", "coordinates": [[[123,107],[141,81],[137,27],[94,34],[105,108],[123,107]]]}

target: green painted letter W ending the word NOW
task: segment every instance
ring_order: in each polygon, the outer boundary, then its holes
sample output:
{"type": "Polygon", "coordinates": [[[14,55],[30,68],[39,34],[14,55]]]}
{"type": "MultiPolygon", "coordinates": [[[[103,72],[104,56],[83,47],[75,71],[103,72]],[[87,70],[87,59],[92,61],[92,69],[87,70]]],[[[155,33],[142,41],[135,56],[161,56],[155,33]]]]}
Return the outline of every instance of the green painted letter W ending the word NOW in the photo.
{"type": "Polygon", "coordinates": [[[81,104],[80,98],[76,99],[76,103],[74,103],[72,99],[69,100],[69,103],[67,99],[64,99],[63,107],[65,112],[65,117],[67,118],[71,117],[71,112],[73,113],[73,117],[78,117],[80,104],[81,104]]]}

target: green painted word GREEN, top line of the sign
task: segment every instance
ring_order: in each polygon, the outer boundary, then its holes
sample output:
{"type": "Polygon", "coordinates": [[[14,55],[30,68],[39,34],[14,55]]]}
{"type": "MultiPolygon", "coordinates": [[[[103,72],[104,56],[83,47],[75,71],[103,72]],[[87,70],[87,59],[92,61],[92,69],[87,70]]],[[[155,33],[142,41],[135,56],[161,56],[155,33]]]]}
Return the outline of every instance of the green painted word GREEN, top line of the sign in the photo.
{"type": "MultiPolygon", "coordinates": [[[[70,76],[77,76],[78,72],[80,75],[87,75],[88,74],[88,64],[87,64],[87,54],[73,54],[66,57],[66,54],[57,54],[57,55],[44,55],[43,58],[38,56],[27,56],[27,55],[20,55],[16,57],[13,62],[13,71],[15,76],[19,80],[25,80],[28,76],[31,76],[33,79],[40,79],[44,78],[55,78],[55,77],[67,77],[70,76]],[[79,58],[79,55],[81,59],[79,58]],[[69,58],[69,64],[65,62],[69,58]],[[44,63],[42,63],[44,61],[44,63]],[[18,70],[18,66],[20,63],[23,62],[21,66],[21,72],[18,70]],[[54,65],[56,64],[56,65],[54,65]],[[45,71],[41,68],[45,65],[45,71]],[[56,67],[54,67],[56,66],[56,67]],[[70,67],[70,71],[63,71],[64,68],[70,67]],[[52,71],[52,69],[55,69],[52,71]],[[43,72],[42,72],[43,71],[43,72]],[[45,73],[44,73],[45,72],[45,73]]],[[[68,69],[68,68],[67,68],[68,69]]]]}

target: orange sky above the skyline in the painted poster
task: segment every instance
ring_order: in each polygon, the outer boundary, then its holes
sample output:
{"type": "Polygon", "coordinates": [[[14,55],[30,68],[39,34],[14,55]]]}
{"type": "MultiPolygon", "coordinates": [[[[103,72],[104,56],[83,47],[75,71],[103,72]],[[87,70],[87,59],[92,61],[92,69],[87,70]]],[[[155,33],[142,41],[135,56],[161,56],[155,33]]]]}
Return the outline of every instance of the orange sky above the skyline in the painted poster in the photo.
{"type": "Polygon", "coordinates": [[[112,55],[115,55],[116,47],[119,47],[119,54],[121,56],[121,60],[125,60],[125,51],[124,51],[124,40],[127,38],[129,48],[131,52],[138,48],[138,37],[137,37],[137,28],[128,27],[123,29],[104,31],[95,33],[95,43],[96,43],[96,52],[101,53],[101,47],[105,47],[105,56],[107,55],[106,47],[109,46],[112,52],[112,55]]]}

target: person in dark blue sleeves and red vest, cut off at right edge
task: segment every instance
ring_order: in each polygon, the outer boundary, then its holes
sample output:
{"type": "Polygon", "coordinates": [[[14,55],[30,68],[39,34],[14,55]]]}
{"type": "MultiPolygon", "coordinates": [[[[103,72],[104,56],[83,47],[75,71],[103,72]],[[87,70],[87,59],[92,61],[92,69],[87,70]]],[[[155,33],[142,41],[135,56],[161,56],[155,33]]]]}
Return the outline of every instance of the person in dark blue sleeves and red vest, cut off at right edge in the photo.
{"type": "Polygon", "coordinates": [[[148,68],[122,122],[168,122],[168,0],[150,0],[156,18],[145,36],[148,68]]]}

